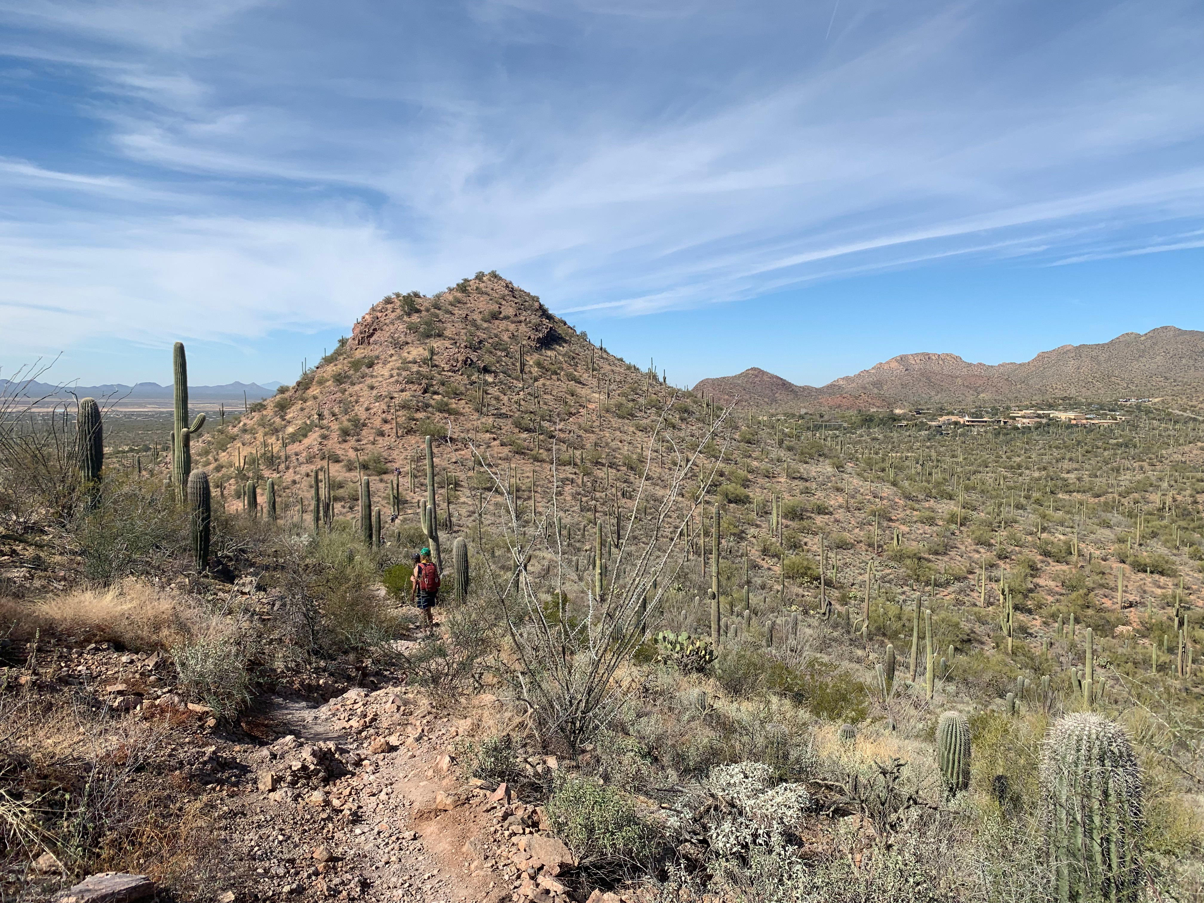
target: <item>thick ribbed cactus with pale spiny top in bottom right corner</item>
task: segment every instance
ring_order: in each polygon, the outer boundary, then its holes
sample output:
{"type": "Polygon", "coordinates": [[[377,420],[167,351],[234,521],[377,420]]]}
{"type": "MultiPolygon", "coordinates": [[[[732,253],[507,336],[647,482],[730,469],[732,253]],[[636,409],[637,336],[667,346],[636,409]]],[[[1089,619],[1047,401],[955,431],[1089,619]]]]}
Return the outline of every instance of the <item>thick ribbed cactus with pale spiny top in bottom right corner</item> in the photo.
{"type": "Polygon", "coordinates": [[[1052,898],[1137,901],[1141,777],[1120,726],[1086,712],[1063,718],[1046,734],[1040,781],[1052,898]]]}

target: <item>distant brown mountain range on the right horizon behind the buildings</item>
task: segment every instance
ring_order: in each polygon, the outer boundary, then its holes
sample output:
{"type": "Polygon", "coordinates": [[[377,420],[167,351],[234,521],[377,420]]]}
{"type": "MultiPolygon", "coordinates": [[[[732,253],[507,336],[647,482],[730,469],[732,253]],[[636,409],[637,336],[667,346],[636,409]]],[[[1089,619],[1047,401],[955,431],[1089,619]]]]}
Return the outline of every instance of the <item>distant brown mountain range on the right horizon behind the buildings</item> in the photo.
{"type": "Polygon", "coordinates": [[[1204,332],[1159,326],[1100,344],[1064,344],[1023,364],[972,364],[956,354],[901,354],[824,386],[795,385],[757,367],[695,386],[756,408],[864,408],[1026,399],[1110,401],[1204,394],[1204,332]]]}

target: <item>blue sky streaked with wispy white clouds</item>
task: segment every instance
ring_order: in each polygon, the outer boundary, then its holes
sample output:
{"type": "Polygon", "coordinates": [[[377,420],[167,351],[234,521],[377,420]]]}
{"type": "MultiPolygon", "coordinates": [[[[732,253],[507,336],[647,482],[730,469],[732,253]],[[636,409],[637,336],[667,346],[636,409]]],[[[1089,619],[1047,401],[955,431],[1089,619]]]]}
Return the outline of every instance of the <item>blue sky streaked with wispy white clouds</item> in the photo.
{"type": "Polygon", "coordinates": [[[0,0],[0,366],[295,378],[497,270],[671,382],[1204,329],[1204,8],[0,0]]]}

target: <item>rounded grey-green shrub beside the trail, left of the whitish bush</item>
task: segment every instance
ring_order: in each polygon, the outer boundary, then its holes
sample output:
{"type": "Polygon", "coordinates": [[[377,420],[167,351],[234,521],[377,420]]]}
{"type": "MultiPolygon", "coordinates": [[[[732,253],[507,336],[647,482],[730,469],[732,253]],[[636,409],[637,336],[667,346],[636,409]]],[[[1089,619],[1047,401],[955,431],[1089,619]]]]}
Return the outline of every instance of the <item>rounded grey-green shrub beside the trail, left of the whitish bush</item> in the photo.
{"type": "Polygon", "coordinates": [[[548,799],[553,830],[591,870],[635,864],[648,854],[650,828],[631,797],[588,778],[565,778],[548,799]]]}

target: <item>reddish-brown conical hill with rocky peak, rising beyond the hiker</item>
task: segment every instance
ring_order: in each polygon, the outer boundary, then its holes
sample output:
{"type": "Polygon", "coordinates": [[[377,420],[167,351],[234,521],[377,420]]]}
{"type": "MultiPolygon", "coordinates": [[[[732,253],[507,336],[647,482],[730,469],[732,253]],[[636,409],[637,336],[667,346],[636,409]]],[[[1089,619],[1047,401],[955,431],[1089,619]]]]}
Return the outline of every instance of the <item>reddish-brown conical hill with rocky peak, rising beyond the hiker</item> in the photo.
{"type": "MultiPolygon", "coordinates": [[[[478,454],[507,474],[527,510],[532,485],[547,500],[555,464],[566,515],[592,519],[633,497],[653,425],[674,395],[538,297],[478,273],[433,297],[383,299],[294,385],[237,424],[202,433],[194,456],[223,497],[234,491],[228,483],[254,472],[273,477],[288,504],[307,510],[313,470],[329,461],[338,517],[356,510],[361,473],[377,484],[374,504],[389,510],[386,483],[377,478],[400,473],[413,514],[412,488],[425,486],[424,437],[432,435],[441,494],[452,482],[454,524],[474,517],[474,491],[486,488],[468,485],[474,474],[484,479],[478,454]]],[[[686,399],[671,421],[702,423],[706,411],[686,399]]]]}

